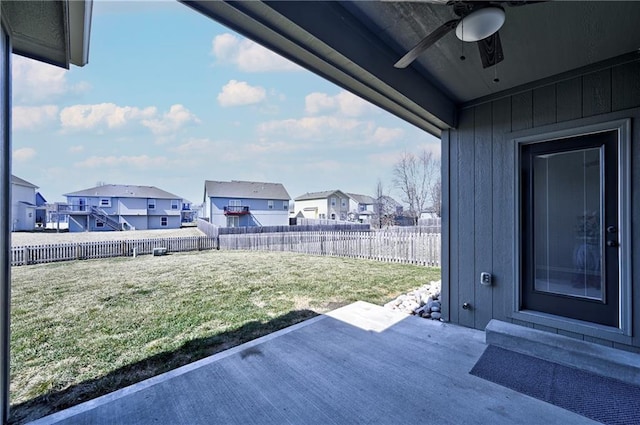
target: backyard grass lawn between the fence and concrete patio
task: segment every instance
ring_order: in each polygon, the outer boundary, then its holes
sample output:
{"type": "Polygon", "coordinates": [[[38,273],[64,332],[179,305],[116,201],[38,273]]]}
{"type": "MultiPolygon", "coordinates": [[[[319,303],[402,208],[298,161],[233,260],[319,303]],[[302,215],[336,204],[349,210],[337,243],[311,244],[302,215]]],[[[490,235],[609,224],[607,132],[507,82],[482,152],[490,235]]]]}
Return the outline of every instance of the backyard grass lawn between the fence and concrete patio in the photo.
{"type": "Polygon", "coordinates": [[[14,267],[12,421],[439,279],[419,266],[238,251],[14,267]]]}

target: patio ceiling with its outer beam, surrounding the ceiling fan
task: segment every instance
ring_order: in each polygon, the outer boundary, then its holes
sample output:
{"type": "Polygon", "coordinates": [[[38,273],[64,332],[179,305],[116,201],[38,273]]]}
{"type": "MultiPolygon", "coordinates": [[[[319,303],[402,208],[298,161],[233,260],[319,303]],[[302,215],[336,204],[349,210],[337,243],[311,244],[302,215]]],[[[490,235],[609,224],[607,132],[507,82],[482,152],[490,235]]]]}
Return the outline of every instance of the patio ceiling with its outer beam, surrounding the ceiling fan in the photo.
{"type": "Polygon", "coordinates": [[[408,68],[393,67],[456,18],[437,0],[184,3],[436,136],[456,126],[460,107],[584,67],[637,60],[640,48],[640,2],[505,4],[505,59],[487,69],[475,43],[464,44],[460,60],[453,32],[408,68]]]}

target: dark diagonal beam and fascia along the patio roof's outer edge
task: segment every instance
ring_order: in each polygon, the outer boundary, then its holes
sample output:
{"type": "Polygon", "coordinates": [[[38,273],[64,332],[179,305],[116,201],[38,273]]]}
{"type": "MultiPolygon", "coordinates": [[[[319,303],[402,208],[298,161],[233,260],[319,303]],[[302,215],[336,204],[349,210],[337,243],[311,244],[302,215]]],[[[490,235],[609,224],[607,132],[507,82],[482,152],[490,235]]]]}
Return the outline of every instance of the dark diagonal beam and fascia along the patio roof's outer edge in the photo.
{"type": "Polygon", "coordinates": [[[339,2],[180,1],[436,137],[456,125],[455,103],[395,69],[397,53],[339,2]]]}

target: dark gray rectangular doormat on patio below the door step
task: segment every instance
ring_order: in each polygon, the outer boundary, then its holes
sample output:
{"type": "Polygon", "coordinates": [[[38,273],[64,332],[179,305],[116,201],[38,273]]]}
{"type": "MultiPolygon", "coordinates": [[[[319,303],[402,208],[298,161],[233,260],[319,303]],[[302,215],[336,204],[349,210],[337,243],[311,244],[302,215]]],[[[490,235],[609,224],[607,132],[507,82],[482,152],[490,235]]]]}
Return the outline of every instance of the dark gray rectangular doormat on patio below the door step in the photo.
{"type": "Polygon", "coordinates": [[[640,424],[640,387],[490,345],[472,375],[604,424],[640,424]]]}

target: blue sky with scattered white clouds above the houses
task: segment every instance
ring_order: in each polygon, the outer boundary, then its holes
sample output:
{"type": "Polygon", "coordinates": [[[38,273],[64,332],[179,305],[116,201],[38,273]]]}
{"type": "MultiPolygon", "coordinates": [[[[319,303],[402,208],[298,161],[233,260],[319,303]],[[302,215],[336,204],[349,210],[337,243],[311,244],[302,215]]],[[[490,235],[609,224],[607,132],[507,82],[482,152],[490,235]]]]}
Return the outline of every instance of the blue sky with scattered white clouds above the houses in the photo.
{"type": "Polygon", "coordinates": [[[89,64],[13,56],[13,173],[50,202],[98,182],[202,202],[205,180],[283,183],[292,198],[392,196],[424,131],[173,1],[94,2],[89,64]]]}

